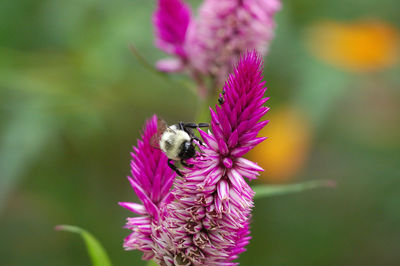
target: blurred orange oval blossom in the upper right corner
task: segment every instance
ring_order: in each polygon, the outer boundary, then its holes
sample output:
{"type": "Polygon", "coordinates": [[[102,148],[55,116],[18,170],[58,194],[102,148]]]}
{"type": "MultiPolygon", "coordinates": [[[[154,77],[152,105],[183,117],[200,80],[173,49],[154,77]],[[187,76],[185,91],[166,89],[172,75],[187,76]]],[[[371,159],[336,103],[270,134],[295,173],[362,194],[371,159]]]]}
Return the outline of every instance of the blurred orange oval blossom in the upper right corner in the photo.
{"type": "Polygon", "coordinates": [[[316,57],[355,72],[396,64],[399,40],[398,30],[379,20],[320,21],[310,27],[306,36],[307,46],[316,57]]]}

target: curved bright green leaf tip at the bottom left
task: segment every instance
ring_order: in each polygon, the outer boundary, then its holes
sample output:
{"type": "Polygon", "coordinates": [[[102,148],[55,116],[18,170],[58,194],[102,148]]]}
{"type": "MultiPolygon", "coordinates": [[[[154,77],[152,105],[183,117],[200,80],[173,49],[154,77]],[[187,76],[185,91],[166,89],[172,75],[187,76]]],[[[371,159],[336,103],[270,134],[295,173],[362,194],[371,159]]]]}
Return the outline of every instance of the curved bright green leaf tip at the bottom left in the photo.
{"type": "Polygon", "coordinates": [[[110,259],[100,242],[88,231],[73,225],[58,225],[55,230],[80,234],[86,243],[86,247],[93,266],[111,266],[110,259]]]}

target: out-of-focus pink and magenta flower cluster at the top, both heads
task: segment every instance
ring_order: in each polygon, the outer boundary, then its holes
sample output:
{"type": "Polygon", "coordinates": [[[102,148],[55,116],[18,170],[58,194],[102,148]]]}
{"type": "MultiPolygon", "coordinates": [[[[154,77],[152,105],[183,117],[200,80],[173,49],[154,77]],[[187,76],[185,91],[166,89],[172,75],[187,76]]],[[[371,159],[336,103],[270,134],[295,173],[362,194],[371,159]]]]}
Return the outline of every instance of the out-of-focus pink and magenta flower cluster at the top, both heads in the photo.
{"type": "MultiPolygon", "coordinates": [[[[190,19],[189,15],[176,15],[189,14],[182,0],[159,0],[155,28],[171,36],[170,45],[179,40],[185,59],[178,54],[179,60],[161,60],[157,67],[176,71],[186,66],[192,76],[198,78],[201,73],[219,84],[226,79],[240,54],[248,50],[266,54],[275,28],[273,17],[280,7],[280,0],[205,0],[197,19],[190,19]],[[173,2],[175,9],[164,5],[165,2],[173,2]],[[189,26],[188,20],[182,17],[189,18],[189,26]]],[[[159,40],[166,39],[160,36],[159,40]]],[[[159,47],[166,50],[164,45],[159,47]]]]}

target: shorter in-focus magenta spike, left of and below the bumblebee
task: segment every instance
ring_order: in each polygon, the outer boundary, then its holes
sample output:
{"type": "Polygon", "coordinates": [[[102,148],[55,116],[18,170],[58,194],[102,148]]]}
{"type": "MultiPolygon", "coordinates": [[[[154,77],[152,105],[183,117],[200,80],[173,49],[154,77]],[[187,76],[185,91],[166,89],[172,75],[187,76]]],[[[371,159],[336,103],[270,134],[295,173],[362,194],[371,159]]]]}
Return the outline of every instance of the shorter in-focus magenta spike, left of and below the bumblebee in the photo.
{"type": "Polygon", "coordinates": [[[170,189],[175,173],[167,165],[167,157],[150,144],[157,133],[157,117],[154,115],[145,125],[141,140],[131,153],[131,176],[128,180],[142,204],[120,202],[119,204],[140,217],[128,218],[125,228],[132,233],[125,239],[126,250],[138,249],[143,259],[154,256],[152,230],[158,226],[162,208],[172,199],[170,189]]]}

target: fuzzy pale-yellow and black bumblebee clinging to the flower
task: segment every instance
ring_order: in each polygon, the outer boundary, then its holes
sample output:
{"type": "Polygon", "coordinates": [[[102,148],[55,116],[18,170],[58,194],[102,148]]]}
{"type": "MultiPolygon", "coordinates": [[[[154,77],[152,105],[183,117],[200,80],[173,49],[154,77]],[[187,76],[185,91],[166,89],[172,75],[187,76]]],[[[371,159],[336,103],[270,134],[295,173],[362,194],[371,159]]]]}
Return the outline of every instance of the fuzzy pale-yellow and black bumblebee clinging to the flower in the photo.
{"type": "Polygon", "coordinates": [[[207,123],[183,123],[179,122],[172,126],[168,126],[164,120],[158,120],[157,134],[151,139],[151,143],[155,147],[159,147],[168,157],[168,166],[171,167],[179,176],[183,174],[172,163],[172,161],[180,161],[186,167],[193,165],[186,163],[186,160],[195,157],[196,149],[194,140],[202,145],[199,138],[193,133],[193,129],[198,127],[209,127],[207,123]]]}

